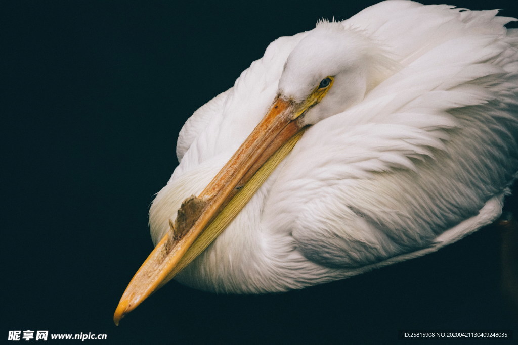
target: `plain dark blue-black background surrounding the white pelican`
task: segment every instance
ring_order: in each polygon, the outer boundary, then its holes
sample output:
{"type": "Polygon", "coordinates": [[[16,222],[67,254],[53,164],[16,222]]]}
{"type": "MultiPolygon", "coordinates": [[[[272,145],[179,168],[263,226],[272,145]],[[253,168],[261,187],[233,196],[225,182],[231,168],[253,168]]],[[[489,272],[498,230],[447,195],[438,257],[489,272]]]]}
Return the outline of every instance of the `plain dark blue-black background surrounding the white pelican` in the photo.
{"type": "MultiPolygon", "coordinates": [[[[373,3],[0,4],[0,339],[26,329],[107,334],[99,343],[394,343],[399,329],[514,329],[518,339],[496,227],[284,294],[214,295],[171,282],[113,325],[152,249],[148,207],[176,167],[184,121],[269,42],[373,3]]],[[[514,0],[451,3],[518,16],[514,0]]]]}

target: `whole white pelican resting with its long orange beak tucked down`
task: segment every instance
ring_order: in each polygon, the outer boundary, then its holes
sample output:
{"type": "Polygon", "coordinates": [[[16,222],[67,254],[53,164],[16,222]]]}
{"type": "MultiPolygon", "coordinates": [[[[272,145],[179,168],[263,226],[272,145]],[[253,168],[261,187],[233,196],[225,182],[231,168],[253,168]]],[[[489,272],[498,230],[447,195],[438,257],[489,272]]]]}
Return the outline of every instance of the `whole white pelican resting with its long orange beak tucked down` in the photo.
{"type": "Polygon", "coordinates": [[[172,278],[301,289],[496,220],[518,170],[518,31],[497,12],[389,0],[269,44],[181,129],[116,324],[172,278]]]}

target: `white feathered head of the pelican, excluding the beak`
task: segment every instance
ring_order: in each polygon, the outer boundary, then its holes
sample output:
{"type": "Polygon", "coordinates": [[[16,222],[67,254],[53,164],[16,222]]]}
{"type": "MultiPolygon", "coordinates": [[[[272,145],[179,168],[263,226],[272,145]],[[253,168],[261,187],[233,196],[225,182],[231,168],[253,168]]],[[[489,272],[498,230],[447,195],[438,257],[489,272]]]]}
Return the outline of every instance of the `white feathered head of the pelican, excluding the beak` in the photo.
{"type": "Polygon", "coordinates": [[[278,93],[303,105],[303,123],[314,125],[361,102],[394,66],[379,42],[341,23],[320,22],[286,59],[278,93]],[[328,80],[325,97],[306,107],[328,80]]]}

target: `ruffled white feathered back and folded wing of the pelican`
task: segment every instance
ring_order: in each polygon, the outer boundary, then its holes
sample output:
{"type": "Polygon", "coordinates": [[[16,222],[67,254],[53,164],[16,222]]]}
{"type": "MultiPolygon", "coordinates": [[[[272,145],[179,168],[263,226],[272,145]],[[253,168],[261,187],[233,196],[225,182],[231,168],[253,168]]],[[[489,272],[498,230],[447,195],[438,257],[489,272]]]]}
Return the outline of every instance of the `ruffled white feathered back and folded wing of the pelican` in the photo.
{"type": "Polygon", "coordinates": [[[496,13],[387,1],[342,22],[400,70],[308,130],[272,187],[271,226],[312,261],[362,267],[431,246],[503,193],[518,167],[518,41],[496,13]]]}

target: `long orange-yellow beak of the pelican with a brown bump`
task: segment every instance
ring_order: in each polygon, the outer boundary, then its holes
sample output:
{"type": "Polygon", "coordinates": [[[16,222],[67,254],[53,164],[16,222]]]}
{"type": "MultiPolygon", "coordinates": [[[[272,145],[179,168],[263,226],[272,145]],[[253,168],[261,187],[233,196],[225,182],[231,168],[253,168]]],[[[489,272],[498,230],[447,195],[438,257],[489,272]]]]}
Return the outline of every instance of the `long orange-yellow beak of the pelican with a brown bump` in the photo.
{"type": "MultiPolygon", "coordinates": [[[[198,197],[193,196],[182,203],[176,221],[170,222],[171,231],[162,238],[162,241],[140,266],[122,295],[113,316],[116,325],[119,324],[125,314],[135,309],[150,294],[161,288],[183,267],[194,260],[240,211],[251,195],[244,202],[235,202],[239,206],[233,204],[228,205],[228,207],[225,206],[231,200],[235,201],[233,198],[238,192],[234,199],[238,199],[237,197],[243,194],[242,190],[246,188],[242,187],[247,187],[246,185],[249,182],[251,183],[250,180],[258,170],[265,169],[262,167],[268,164],[264,163],[270,156],[275,156],[274,153],[280,147],[286,146],[286,143],[290,143],[288,145],[290,147],[294,146],[301,135],[303,126],[298,119],[306,109],[307,107],[301,104],[278,97],[262,121],[212,179],[212,182],[198,197]],[[299,134],[296,135],[297,133],[299,134]],[[223,217],[220,214],[224,208],[225,210],[232,208],[231,217],[228,215],[223,217]],[[221,220],[221,218],[224,219],[221,220]],[[221,226],[222,222],[224,223],[223,226],[221,226]],[[212,223],[218,223],[219,225],[215,227],[212,223]],[[213,228],[219,230],[211,230],[213,228]],[[203,236],[196,241],[202,233],[203,236]],[[200,241],[202,237],[204,239],[200,241]],[[191,248],[191,246],[196,247],[196,249],[191,248]]],[[[280,161],[282,157],[277,160],[280,161]]],[[[275,167],[270,167],[269,172],[273,169],[275,167]]],[[[266,177],[263,176],[261,181],[264,182],[266,177]]],[[[261,183],[255,183],[255,185],[261,183]]],[[[254,191],[252,191],[252,194],[254,191]]]]}

